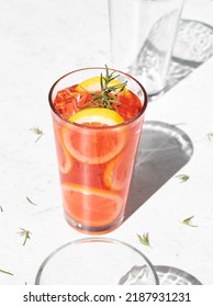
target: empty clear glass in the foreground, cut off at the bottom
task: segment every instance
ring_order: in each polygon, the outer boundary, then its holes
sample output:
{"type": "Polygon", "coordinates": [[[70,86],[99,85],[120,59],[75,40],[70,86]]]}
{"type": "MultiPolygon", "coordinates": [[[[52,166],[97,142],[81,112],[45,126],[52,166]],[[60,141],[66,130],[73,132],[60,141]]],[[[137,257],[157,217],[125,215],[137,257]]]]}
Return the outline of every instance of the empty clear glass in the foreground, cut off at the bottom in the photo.
{"type": "Polygon", "coordinates": [[[42,263],[36,285],[157,285],[157,273],[139,250],[110,238],[68,242],[42,263]]]}

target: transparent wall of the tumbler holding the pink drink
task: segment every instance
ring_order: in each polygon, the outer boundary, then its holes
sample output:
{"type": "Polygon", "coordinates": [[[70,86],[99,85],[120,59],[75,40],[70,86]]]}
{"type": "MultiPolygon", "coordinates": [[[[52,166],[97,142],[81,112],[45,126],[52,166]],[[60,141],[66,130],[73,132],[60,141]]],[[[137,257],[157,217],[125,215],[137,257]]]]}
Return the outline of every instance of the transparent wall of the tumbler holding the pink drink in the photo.
{"type": "MultiPolygon", "coordinates": [[[[104,70],[72,71],[57,80],[49,92],[65,217],[76,229],[93,234],[112,230],[123,220],[147,105],[146,93],[134,78],[119,71],[117,80],[127,81],[127,96],[139,100],[141,110],[113,126],[70,122],[56,111],[54,101],[64,89],[104,70]]],[[[134,110],[134,99],[131,101],[134,110]]]]}

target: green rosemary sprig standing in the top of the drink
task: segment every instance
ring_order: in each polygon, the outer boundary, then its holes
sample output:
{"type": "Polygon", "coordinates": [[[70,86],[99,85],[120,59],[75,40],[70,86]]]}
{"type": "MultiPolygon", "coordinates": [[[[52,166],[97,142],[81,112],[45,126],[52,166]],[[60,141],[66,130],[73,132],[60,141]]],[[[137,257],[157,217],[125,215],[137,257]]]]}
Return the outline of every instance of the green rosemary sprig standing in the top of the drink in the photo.
{"type": "MultiPolygon", "coordinates": [[[[116,107],[120,105],[120,101],[117,99],[117,95],[125,89],[127,81],[124,83],[120,82],[112,82],[115,80],[120,75],[114,75],[116,71],[109,72],[108,66],[105,66],[105,76],[101,73],[100,76],[100,87],[101,87],[101,93],[93,93],[89,92],[91,94],[91,100],[83,104],[83,107],[91,106],[91,107],[105,107],[110,110],[116,110],[116,107]]],[[[86,89],[83,89],[86,90],[86,89]]],[[[87,90],[86,90],[87,91],[87,90]]]]}

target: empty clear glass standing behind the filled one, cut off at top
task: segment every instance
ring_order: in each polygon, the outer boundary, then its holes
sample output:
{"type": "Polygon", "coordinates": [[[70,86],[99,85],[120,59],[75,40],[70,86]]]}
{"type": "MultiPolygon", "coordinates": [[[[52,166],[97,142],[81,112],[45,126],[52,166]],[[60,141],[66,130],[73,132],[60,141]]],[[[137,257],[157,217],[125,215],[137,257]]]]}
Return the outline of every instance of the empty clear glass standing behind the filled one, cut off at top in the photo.
{"type": "Polygon", "coordinates": [[[164,92],[184,0],[109,0],[112,65],[164,92]]]}

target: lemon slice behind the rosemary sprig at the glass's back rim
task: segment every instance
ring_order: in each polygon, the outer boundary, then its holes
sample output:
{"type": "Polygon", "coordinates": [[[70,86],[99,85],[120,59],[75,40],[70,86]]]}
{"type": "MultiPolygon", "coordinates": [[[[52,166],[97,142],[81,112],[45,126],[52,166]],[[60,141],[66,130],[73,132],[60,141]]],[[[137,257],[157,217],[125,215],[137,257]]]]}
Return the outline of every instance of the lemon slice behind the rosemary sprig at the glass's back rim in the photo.
{"type": "MultiPolygon", "coordinates": [[[[121,86],[121,84],[122,83],[116,79],[113,79],[109,82],[110,87],[121,86]]],[[[101,77],[96,76],[96,77],[89,78],[89,79],[80,82],[76,89],[78,92],[82,92],[85,90],[87,90],[88,92],[99,92],[99,91],[101,91],[101,77]]]]}

